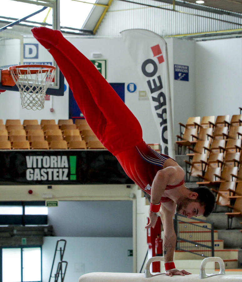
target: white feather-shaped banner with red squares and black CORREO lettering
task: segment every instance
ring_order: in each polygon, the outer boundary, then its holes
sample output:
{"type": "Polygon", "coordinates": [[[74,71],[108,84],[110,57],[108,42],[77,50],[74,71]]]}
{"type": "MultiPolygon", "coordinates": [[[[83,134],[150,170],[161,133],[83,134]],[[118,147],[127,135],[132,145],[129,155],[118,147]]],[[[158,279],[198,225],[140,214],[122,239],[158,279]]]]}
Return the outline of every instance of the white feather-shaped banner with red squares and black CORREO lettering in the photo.
{"type": "Polygon", "coordinates": [[[126,48],[146,81],[153,117],[160,132],[161,153],[175,158],[166,41],[146,29],[121,32],[126,48]]]}

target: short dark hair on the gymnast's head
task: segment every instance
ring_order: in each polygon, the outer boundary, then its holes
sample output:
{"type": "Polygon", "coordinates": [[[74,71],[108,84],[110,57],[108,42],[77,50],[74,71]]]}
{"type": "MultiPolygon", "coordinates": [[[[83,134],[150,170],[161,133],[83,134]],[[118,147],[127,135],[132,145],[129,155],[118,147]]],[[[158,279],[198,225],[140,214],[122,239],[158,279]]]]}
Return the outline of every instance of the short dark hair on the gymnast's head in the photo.
{"type": "Polygon", "coordinates": [[[206,186],[198,186],[194,188],[188,188],[192,192],[198,193],[198,197],[195,202],[199,202],[201,206],[205,206],[205,211],[203,213],[204,217],[208,217],[213,211],[215,206],[215,196],[213,192],[206,186]]]}

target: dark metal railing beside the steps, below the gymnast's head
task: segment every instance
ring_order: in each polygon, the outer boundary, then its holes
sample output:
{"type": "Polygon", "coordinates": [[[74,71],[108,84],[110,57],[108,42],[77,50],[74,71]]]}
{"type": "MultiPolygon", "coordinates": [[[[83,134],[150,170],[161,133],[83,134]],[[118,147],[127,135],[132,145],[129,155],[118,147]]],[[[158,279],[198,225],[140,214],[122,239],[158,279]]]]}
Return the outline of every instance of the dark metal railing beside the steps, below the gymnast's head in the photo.
{"type": "Polygon", "coordinates": [[[174,228],[177,235],[176,250],[202,257],[214,257],[214,223],[175,214],[174,228]]]}

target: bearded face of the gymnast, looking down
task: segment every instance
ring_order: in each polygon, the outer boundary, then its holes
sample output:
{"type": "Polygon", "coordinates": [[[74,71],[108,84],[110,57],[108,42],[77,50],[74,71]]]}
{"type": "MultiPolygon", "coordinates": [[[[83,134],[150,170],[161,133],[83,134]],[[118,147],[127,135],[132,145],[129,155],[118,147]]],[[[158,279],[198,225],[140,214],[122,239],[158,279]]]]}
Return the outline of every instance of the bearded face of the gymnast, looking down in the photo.
{"type": "Polygon", "coordinates": [[[181,197],[177,203],[177,213],[180,213],[188,218],[203,215],[205,208],[199,202],[187,197],[181,197]]]}

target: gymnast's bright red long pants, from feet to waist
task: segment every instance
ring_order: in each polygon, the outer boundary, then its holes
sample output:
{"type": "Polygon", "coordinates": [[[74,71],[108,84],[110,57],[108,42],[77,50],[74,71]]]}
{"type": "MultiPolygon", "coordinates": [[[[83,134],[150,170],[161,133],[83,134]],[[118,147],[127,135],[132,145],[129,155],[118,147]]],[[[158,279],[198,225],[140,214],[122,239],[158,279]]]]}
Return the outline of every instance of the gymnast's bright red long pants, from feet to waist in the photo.
{"type": "Polygon", "coordinates": [[[66,78],[87,123],[113,154],[142,142],[142,129],[121,98],[96,67],[57,30],[32,29],[34,37],[49,50],[66,78]]]}

